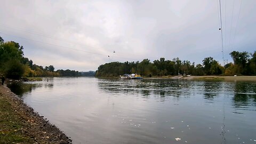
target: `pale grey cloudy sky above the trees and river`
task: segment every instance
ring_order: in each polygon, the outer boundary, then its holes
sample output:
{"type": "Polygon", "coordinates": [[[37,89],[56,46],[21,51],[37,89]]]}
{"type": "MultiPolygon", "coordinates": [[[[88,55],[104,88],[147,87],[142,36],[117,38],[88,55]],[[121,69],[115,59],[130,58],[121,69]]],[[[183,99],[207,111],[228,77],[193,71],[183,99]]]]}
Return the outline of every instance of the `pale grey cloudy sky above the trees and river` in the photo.
{"type": "MultiPolygon", "coordinates": [[[[218,2],[2,0],[0,36],[23,45],[25,57],[37,65],[55,69],[97,70],[107,62],[161,57],[223,63],[218,2]]],[[[256,50],[255,5],[221,0],[229,62],[231,51],[256,50]]]]}

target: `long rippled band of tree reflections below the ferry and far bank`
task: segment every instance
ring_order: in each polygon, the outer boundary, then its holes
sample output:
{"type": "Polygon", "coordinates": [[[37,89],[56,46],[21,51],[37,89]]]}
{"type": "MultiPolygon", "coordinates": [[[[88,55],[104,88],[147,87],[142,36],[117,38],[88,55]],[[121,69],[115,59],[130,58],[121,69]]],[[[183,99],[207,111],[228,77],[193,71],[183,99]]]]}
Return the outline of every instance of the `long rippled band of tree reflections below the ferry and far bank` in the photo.
{"type": "MultiPolygon", "coordinates": [[[[107,93],[139,94],[143,98],[158,95],[161,102],[170,97],[190,98],[193,94],[203,93],[204,99],[213,102],[214,98],[221,94],[234,93],[233,106],[236,108],[247,108],[256,106],[255,82],[223,82],[223,81],[178,81],[166,79],[143,79],[140,81],[100,79],[99,89],[107,93]]],[[[224,96],[227,97],[227,96],[224,96]]]]}

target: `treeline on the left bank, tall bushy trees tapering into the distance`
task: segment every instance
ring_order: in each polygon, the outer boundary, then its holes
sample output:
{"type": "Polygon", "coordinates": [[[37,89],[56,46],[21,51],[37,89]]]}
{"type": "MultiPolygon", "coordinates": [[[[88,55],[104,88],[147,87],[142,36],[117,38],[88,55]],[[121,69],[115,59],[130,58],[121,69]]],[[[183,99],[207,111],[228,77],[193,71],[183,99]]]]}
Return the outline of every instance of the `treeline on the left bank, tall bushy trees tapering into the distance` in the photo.
{"type": "Polygon", "coordinates": [[[44,76],[94,76],[94,71],[55,70],[54,66],[38,66],[24,56],[23,46],[10,41],[4,42],[0,36],[0,74],[8,78],[44,76]]]}

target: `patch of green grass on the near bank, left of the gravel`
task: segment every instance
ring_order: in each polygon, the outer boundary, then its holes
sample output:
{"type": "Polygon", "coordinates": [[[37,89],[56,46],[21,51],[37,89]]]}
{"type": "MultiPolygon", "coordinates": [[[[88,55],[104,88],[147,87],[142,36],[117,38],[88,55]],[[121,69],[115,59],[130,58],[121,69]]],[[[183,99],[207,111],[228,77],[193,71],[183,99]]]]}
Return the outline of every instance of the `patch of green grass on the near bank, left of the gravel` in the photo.
{"type": "Polygon", "coordinates": [[[21,119],[15,116],[15,110],[0,95],[0,143],[30,143],[30,138],[23,134],[21,119]]]}

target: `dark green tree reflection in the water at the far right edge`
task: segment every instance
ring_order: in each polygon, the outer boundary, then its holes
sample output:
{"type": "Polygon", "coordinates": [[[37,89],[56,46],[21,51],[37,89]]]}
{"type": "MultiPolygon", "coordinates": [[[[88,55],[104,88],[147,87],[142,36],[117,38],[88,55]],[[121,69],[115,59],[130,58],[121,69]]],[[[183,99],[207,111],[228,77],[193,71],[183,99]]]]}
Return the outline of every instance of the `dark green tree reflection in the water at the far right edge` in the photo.
{"type": "Polygon", "coordinates": [[[247,108],[256,106],[256,87],[252,82],[237,82],[235,84],[233,106],[235,108],[247,108]]]}

